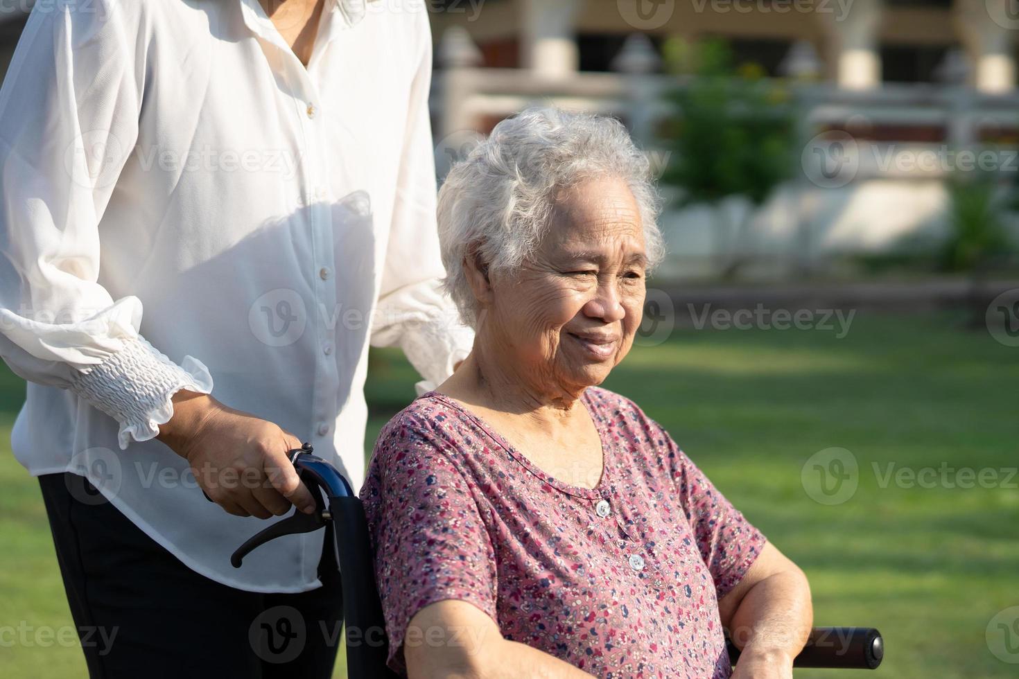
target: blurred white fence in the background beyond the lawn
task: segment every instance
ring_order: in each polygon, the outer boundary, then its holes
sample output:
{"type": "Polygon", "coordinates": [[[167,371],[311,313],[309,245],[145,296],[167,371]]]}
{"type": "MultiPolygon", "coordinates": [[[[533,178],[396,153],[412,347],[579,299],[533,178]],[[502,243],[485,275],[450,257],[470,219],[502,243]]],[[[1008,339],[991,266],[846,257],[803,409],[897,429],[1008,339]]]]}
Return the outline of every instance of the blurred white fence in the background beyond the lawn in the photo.
{"type": "MultiPolygon", "coordinates": [[[[621,72],[555,78],[475,67],[473,46],[449,42],[440,47],[444,67],[432,93],[440,176],[479,130],[536,103],[618,116],[653,167],[668,161],[653,130],[675,115],[663,95],[684,80],[649,72],[655,57],[639,37],[618,58],[621,72]]],[[[758,276],[783,276],[823,267],[833,256],[936,242],[946,229],[948,174],[1019,172],[1019,95],[980,95],[953,83],[887,83],[862,92],[789,87],[802,138],[797,178],[749,217],[748,229],[735,226],[750,209],[740,196],[666,211],[667,275],[710,277],[739,257],[753,262],[758,276]]]]}

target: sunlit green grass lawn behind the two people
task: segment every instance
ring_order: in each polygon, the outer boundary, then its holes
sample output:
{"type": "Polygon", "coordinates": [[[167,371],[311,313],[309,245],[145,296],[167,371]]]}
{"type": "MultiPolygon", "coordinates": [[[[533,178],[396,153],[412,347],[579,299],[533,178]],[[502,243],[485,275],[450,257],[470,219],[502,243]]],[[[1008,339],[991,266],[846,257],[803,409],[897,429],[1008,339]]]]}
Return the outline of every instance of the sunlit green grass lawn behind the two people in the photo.
{"type": "MultiPolygon", "coordinates": [[[[804,568],[816,624],[880,628],[888,657],[876,676],[1016,676],[985,630],[1019,606],[1019,478],[948,488],[940,468],[1019,465],[1019,349],[953,314],[858,315],[847,337],[833,335],[678,331],[635,348],[604,386],[662,422],[804,568]],[[855,495],[836,506],[812,500],[801,480],[808,458],[832,447],[859,465],[855,495]],[[936,487],[886,483],[893,463],[893,472],[938,470],[936,487]]],[[[398,355],[374,354],[369,440],[413,397],[415,379],[398,355]]],[[[9,454],[22,398],[20,382],[0,374],[0,627],[70,625],[38,486],[9,454]]],[[[0,633],[0,676],[85,676],[76,647],[7,639],[0,633]]],[[[864,675],[797,672],[853,676],[864,675]]]]}

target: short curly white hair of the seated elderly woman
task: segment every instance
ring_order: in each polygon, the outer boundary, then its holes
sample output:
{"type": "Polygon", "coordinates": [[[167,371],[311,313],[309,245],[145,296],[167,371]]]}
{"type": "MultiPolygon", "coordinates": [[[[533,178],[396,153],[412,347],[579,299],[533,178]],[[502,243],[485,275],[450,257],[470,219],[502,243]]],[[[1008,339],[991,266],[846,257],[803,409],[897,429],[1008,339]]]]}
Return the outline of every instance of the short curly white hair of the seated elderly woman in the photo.
{"type": "Polygon", "coordinates": [[[529,108],[495,125],[439,189],[443,286],[464,323],[477,328],[465,258],[479,254],[489,271],[519,268],[544,236],[556,193],[584,179],[627,182],[640,211],[648,271],[660,263],[661,199],[649,165],[623,123],[607,116],[529,108]]]}

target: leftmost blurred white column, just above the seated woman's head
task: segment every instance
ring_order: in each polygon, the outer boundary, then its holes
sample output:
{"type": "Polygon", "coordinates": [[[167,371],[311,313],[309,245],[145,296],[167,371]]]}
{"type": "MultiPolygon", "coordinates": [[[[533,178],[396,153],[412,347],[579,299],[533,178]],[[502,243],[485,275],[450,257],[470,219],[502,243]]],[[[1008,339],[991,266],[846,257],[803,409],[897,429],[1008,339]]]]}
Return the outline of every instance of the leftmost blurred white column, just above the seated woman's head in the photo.
{"type": "Polygon", "coordinates": [[[518,0],[521,5],[521,61],[536,75],[562,77],[577,71],[574,21],[580,0],[518,0]]]}

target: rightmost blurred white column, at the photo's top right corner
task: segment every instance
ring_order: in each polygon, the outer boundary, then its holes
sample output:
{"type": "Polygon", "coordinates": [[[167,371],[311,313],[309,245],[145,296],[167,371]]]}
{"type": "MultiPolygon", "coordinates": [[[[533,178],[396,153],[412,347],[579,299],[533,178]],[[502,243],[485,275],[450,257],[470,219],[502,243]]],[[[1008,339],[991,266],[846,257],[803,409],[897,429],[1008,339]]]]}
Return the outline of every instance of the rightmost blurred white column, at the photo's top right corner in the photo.
{"type": "Polygon", "coordinates": [[[1014,40],[1019,17],[1009,11],[1014,0],[956,0],[955,21],[972,64],[971,84],[987,94],[1016,87],[1014,40]]]}

